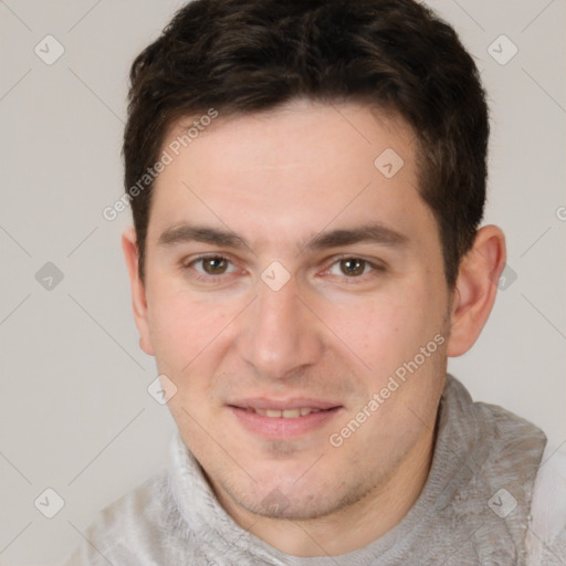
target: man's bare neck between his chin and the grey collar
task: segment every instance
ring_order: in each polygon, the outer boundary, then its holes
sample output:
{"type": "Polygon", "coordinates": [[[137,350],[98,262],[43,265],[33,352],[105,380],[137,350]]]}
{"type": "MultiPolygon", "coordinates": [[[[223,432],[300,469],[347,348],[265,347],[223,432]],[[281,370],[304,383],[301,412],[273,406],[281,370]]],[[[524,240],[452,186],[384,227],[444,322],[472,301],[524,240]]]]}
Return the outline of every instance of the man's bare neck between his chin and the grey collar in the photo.
{"type": "Polygon", "coordinates": [[[270,518],[238,505],[214,489],[231,517],[274,548],[294,556],[345,554],[361,548],[394,528],[419,497],[430,471],[434,433],[422,437],[398,467],[361,500],[324,517],[306,521],[270,518]]]}

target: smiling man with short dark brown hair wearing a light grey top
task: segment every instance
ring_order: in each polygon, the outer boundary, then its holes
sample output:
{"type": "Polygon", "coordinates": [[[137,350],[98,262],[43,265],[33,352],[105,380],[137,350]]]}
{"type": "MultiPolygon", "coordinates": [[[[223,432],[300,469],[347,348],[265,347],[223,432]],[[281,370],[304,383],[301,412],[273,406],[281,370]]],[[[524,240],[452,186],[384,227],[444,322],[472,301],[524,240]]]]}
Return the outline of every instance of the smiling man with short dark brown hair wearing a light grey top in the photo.
{"type": "Polygon", "coordinates": [[[197,0],[130,80],[123,248],[179,434],[69,564],[563,564],[544,433],[447,376],[505,264],[454,31],[197,0]]]}

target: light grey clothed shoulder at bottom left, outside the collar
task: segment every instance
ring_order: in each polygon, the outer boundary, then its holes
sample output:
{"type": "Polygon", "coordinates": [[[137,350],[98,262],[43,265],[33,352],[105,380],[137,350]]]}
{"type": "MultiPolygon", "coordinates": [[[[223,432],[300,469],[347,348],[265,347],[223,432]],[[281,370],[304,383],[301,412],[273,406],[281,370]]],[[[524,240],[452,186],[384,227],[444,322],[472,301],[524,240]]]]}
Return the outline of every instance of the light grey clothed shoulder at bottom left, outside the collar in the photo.
{"type": "Polygon", "coordinates": [[[101,511],[82,531],[83,543],[64,565],[166,564],[167,544],[181,523],[164,470],[101,511]]]}

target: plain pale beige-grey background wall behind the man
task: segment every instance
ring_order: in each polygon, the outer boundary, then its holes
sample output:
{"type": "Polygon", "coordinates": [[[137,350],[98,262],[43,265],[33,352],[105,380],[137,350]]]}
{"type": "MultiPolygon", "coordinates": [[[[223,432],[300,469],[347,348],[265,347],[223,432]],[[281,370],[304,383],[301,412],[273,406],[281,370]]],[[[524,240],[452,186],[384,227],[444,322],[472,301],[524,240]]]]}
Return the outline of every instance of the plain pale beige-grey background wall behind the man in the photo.
{"type": "MultiPolygon", "coordinates": [[[[479,343],[450,370],[560,446],[565,1],[430,3],[489,91],[486,221],[506,232],[512,270],[479,343]]],[[[174,424],[147,392],[156,370],[138,348],[119,248],[129,211],[109,222],[102,210],[122,193],[129,64],[180,4],[0,0],[2,565],[60,564],[97,510],[167,463],[174,424]],[[45,489],[64,501],[53,518],[34,505],[54,509],[45,489]]]]}

